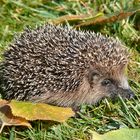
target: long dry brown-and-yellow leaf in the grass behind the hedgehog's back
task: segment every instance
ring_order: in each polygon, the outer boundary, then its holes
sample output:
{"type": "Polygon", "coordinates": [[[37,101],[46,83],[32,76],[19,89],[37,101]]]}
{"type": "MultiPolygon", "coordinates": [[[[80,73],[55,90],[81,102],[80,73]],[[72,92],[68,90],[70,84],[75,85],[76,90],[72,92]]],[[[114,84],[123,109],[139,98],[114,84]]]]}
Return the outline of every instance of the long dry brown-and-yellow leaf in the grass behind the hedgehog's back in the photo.
{"type": "Polygon", "coordinates": [[[102,12],[95,14],[81,14],[81,15],[64,15],[55,20],[51,20],[53,24],[62,24],[65,22],[75,22],[75,28],[88,25],[112,23],[118,20],[125,19],[133,15],[137,10],[121,11],[112,15],[105,15],[102,12]]]}

